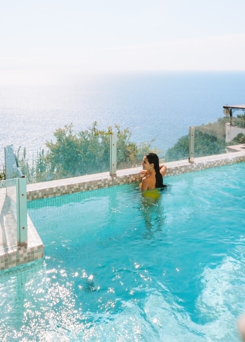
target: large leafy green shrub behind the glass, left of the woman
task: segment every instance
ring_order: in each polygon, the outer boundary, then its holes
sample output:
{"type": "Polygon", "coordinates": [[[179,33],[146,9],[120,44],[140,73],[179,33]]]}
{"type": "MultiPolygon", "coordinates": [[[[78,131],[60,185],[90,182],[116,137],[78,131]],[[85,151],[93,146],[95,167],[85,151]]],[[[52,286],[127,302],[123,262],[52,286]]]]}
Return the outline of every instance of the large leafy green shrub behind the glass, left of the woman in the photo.
{"type": "MultiPolygon", "coordinates": [[[[147,152],[159,151],[151,148],[151,142],[136,144],[131,141],[131,132],[128,128],[121,130],[115,125],[117,133],[117,169],[134,167],[142,162],[147,152]]],[[[43,182],[55,179],[82,176],[87,174],[108,172],[109,170],[109,135],[112,127],[99,130],[97,122],[88,130],[78,133],[73,131],[73,125],[56,129],[54,141],[47,141],[48,151],[38,151],[37,158],[31,166],[26,158],[26,149],[17,157],[22,173],[28,183],[43,182]]]]}

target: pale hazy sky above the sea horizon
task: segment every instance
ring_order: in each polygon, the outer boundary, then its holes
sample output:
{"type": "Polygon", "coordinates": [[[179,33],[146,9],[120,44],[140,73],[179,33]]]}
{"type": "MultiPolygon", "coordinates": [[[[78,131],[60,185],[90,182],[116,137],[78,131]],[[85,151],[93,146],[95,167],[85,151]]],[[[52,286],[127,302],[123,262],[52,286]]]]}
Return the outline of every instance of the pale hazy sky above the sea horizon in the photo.
{"type": "Polygon", "coordinates": [[[0,83],[245,70],[244,0],[0,0],[0,83]]]}

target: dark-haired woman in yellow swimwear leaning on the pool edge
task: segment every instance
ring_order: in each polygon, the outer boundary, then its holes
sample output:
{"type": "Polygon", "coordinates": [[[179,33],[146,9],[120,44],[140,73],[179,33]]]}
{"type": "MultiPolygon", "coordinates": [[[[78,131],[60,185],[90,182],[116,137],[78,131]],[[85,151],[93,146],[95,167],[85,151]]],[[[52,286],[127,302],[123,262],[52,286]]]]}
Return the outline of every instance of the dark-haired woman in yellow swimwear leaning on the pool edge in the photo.
{"type": "Polygon", "coordinates": [[[156,153],[148,153],[144,156],[142,161],[143,171],[141,175],[144,176],[140,184],[141,191],[144,196],[159,197],[157,188],[163,187],[163,177],[166,175],[167,166],[159,166],[159,158],[156,153]]]}

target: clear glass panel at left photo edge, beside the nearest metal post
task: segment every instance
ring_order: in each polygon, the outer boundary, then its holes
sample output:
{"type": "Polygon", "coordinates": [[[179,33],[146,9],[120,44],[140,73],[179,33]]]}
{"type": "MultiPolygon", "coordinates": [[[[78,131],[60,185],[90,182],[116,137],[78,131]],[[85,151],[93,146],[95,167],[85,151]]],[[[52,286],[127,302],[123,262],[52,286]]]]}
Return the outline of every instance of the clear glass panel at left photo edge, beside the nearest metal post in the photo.
{"type": "Polygon", "coordinates": [[[18,244],[17,181],[16,179],[0,181],[0,249],[18,244]]]}

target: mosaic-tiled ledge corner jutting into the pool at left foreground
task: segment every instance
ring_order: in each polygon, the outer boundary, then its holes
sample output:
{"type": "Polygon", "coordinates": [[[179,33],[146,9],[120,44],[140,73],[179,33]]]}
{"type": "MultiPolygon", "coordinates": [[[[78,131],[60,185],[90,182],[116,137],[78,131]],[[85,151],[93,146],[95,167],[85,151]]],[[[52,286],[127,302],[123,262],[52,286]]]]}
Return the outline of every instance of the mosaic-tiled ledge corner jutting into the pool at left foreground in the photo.
{"type": "Polygon", "coordinates": [[[0,274],[44,260],[44,245],[28,215],[28,243],[0,250],[0,274]]]}

